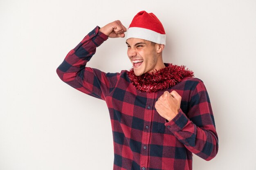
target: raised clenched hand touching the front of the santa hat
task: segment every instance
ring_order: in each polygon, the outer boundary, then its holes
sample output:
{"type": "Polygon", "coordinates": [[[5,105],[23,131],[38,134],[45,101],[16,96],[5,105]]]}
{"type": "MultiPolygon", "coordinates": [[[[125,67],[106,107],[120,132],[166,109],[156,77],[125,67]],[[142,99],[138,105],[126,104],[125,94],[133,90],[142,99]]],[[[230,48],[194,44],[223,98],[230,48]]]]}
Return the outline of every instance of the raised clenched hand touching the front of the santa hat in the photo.
{"type": "Polygon", "coordinates": [[[119,20],[111,22],[99,29],[100,32],[107,35],[109,38],[124,38],[124,32],[126,32],[126,30],[126,27],[119,20]]]}

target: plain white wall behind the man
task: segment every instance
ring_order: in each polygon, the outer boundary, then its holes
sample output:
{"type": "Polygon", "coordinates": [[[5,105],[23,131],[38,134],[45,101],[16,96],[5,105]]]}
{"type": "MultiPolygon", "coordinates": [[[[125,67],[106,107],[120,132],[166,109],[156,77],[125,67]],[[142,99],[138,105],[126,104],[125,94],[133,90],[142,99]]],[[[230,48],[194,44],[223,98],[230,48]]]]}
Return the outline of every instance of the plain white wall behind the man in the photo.
{"type": "MultiPolygon", "coordinates": [[[[56,68],[95,26],[153,12],[167,35],[164,61],[207,87],[219,152],[194,170],[255,170],[255,0],[1,0],[0,170],[111,170],[104,101],[63,83],[56,68]]],[[[104,42],[88,66],[129,69],[125,39],[104,42]]]]}

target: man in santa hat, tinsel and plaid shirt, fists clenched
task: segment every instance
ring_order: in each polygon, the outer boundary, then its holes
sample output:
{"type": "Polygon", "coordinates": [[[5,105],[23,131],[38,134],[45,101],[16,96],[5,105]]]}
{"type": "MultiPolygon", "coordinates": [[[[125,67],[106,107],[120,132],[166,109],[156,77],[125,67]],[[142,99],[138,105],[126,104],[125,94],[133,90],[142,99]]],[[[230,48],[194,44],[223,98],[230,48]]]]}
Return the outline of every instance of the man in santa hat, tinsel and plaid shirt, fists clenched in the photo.
{"type": "Polygon", "coordinates": [[[192,153],[211,160],[218,136],[207,90],[184,66],[164,63],[165,31],[153,13],[141,11],[127,30],[133,68],[104,73],[86,67],[108,38],[124,38],[119,20],[97,26],[57,68],[77,90],[106,101],[114,141],[114,170],[191,170],[192,153]]]}

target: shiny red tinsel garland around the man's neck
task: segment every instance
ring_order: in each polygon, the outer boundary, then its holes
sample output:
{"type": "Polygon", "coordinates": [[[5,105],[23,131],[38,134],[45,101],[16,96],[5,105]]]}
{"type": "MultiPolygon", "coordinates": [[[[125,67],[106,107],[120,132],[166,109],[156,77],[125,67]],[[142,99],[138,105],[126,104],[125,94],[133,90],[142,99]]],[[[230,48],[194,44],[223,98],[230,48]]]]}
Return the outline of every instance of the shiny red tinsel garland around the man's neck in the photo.
{"type": "Polygon", "coordinates": [[[193,71],[185,66],[166,64],[165,68],[137,76],[133,68],[128,71],[128,77],[137,90],[152,93],[170,88],[179,83],[184,77],[194,77],[193,71]]]}

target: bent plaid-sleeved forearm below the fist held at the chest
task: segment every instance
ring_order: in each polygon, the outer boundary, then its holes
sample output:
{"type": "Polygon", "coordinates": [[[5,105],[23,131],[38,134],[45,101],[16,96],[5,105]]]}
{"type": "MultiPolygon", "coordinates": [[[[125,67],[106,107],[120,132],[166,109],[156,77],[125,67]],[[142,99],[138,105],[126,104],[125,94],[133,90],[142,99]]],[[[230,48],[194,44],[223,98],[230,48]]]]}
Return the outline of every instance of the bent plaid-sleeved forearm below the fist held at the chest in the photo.
{"type": "Polygon", "coordinates": [[[165,125],[192,153],[207,161],[216,156],[218,136],[213,124],[198,127],[180,110],[178,115],[165,125]]]}

